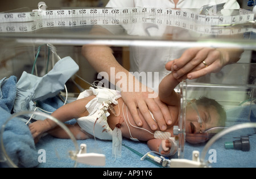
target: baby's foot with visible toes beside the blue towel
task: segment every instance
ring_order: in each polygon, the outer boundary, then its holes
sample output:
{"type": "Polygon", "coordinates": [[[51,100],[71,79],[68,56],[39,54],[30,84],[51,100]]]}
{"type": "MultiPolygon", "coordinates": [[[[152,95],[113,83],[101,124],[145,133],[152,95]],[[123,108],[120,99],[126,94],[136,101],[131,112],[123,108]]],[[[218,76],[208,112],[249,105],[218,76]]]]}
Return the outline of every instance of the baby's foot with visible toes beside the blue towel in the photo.
{"type": "Polygon", "coordinates": [[[51,127],[48,125],[46,121],[36,121],[29,125],[30,132],[32,134],[32,137],[35,140],[35,143],[38,143],[40,138],[42,137],[43,133],[51,129],[51,127]]]}

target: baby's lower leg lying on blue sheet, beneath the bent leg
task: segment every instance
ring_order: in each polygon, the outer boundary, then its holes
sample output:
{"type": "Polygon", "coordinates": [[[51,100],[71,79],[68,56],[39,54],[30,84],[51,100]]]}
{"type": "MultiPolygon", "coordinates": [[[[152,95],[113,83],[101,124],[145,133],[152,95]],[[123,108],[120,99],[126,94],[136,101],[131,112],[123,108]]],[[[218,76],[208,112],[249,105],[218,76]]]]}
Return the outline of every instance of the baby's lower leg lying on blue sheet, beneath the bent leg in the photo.
{"type": "MultiPolygon", "coordinates": [[[[74,135],[74,137],[77,140],[86,140],[89,138],[93,138],[92,135],[90,135],[90,134],[86,133],[84,130],[82,130],[81,127],[78,125],[78,123],[75,123],[75,125],[66,124],[66,126],[68,127],[69,131],[71,131],[71,133],[74,135]]],[[[60,139],[70,139],[67,132],[60,126],[57,126],[52,130],[49,130],[48,134],[52,135],[53,137],[60,138],[60,139]]]]}

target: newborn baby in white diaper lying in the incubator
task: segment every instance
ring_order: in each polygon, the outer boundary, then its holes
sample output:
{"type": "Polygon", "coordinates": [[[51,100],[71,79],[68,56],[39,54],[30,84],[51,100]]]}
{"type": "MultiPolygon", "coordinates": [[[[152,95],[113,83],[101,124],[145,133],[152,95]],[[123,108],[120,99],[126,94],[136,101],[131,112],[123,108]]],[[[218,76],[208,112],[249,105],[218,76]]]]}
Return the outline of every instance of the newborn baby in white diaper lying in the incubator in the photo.
{"type": "MultiPolygon", "coordinates": [[[[170,110],[172,123],[167,126],[166,131],[152,131],[146,120],[139,112],[143,122],[142,127],[138,127],[123,102],[118,91],[103,89],[86,90],[79,99],[62,106],[52,113],[52,116],[61,122],[77,119],[75,125],[67,125],[69,130],[78,140],[97,137],[99,139],[112,140],[113,130],[118,128],[122,132],[122,137],[146,141],[152,151],[160,152],[162,155],[170,156],[174,143],[170,137],[174,137],[174,126],[178,125],[179,118],[179,93],[174,88],[179,82],[172,76],[167,75],[159,84],[159,99],[167,105],[170,110]],[[109,103],[101,100],[110,99],[109,103]],[[100,100],[99,100],[100,99],[100,100]],[[110,103],[111,102],[111,103],[110,103]],[[104,104],[108,106],[108,111],[102,113],[104,104]],[[110,104],[110,105],[109,105],[110,104]],[[110,110],[110,108],[113,108],[110,110]],[[113,110],[115,112],[113,112],[113,110]],[[112,111],[112,112],[111,112],[112,111]],[[106,115],[108,113],[109,115],[106,115]],[[166,139],[156,137],[156,135],[167,135],[166,139]]],[[[205,133],[208,129],[222,126],[225,123],[226,113],[220,104],[215,100],[201,97],[198,100],[189,101],[186,111],[186,140],[189,143],[203,143],[209,140],[210,135],[205,133]]],[[[30,126],[30,131],[38,142],[43,133],[49,133],[57,138],[69,138],[68,134],[57,124],[49,119],[36,121],[30,126]]],[[[171,154],[174,155],[174,154],[171,154]]]]}

